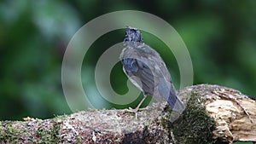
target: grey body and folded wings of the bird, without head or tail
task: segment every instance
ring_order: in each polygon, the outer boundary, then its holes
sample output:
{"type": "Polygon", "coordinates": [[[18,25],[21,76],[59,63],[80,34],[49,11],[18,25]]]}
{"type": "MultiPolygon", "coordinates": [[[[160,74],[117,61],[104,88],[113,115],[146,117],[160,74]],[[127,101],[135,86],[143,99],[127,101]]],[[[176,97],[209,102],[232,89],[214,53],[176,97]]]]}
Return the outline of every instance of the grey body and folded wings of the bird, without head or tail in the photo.
{"type": "Polygon", "coordinates": [[[137,88],[146,95],[154,96],[157,101],[167,101],[167,95],[160,95],[156,88],[160,78],[170,81],[171,76],[164,61],[154,49],[147,45],[140,48],[132,47],[131,49],[128,47],[123,50],[120,59],[124,65],[125,74],[137,88]]]}

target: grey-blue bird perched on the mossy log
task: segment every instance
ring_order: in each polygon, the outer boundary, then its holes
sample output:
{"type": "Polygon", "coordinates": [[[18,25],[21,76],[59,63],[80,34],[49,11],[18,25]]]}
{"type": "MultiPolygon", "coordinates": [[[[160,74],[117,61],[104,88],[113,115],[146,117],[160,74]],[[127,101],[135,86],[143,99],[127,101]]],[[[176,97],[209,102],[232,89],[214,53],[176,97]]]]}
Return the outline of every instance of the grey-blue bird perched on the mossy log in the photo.
{"type": "Polygon", "coordinates": [[[183,111],[185,107],[177,98],[177,91],[165,62],[154,49],[143,43],[142,33],[137,28],[127,26],[124,49],[119,59],[131,83],[143,91],[143,100],[133,112],[138,111],[148,95],[152,95],[157,101],[167,101],[174,111],[183,111]]]}

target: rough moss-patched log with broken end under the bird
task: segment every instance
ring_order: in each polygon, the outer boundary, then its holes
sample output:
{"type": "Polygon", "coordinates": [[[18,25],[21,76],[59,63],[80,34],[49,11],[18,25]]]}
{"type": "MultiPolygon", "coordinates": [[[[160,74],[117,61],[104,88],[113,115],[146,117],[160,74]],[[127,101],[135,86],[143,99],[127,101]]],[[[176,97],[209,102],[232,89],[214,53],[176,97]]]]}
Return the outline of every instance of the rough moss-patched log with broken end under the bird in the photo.
{"type": "Polygon", "coordinates": [[[233,143],[256,141],[256,101],[201,84],[179,92],[183,113],[154,103],[137,113],[90,110],[52,119],[0,122],[2,143],[233,143]],[[175,121],[174,121],[175,120],[175,121]]]}

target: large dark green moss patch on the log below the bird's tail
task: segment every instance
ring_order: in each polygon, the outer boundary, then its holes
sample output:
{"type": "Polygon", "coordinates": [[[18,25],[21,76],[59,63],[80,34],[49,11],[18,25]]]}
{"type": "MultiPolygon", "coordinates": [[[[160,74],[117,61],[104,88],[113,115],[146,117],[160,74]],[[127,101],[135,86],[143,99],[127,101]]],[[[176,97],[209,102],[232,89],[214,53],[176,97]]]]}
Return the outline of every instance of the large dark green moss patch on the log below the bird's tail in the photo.
{"type": "Polygon", "coordinates": [[[211,144],[215,142],[212,139],[215,122],[206,112],[203,103],[204,100],[200,95],[192,94],[185,111],[174,123],[162,119],[162,123],[166,124],[167,129],[173,131],[178,143],[211,144]],[[198,100],[201,102],[199,103],[198,100]]]}

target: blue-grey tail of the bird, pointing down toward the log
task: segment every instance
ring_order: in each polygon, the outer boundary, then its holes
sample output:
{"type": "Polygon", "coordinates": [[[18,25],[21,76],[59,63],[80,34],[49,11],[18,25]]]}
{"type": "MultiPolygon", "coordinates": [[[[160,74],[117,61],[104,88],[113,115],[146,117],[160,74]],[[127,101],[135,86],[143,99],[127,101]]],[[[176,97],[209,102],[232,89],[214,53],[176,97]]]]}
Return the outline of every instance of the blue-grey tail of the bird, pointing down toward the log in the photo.
{"type": "Polygon", "coordinates": [[[172,107],[173,111],[182,112],[185,109],[183,102],[180,101],[176,93],[173,93],[171,90],[167,102],[172,107]]]}

